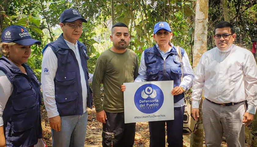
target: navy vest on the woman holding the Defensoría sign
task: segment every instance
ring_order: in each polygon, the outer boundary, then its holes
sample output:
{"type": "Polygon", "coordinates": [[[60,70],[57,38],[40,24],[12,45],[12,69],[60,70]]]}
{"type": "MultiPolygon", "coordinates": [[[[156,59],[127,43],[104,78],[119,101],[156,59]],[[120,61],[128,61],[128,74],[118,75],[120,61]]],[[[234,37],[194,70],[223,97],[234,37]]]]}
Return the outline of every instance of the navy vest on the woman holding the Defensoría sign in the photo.
{"type": "MultiPolygon", "coordinates": [[[[185,50],[180,48],[181,56],[185,50]]],[[[174,87],[180,85],[181,62],[178,58],[176,47],[172,47],[165,60],[156,45],[144,50],[145,65],[147,66],[147,81],[174,81],[174,87]]],[[[174,103],[184,98],[184,93],[174,96],[174,103]]]]}

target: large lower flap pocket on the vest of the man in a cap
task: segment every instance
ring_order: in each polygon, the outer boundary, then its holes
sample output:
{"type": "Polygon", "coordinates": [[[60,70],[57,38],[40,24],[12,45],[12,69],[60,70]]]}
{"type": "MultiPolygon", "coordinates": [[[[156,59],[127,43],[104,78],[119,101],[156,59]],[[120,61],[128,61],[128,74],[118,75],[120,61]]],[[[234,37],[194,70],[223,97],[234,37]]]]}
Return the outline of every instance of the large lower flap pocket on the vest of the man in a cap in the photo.
{"type": "Polygon", "coordinates": [[[77,105],[77,92],[55,94],[55,100],[60,116],[73,115],[77,105]]]}

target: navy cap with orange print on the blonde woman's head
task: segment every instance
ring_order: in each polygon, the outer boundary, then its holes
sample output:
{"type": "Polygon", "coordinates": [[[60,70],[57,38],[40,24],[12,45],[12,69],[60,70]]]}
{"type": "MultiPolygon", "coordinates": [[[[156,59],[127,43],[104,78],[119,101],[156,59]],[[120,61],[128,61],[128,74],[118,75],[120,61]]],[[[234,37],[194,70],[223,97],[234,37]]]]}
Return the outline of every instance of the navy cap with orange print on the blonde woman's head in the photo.
{"type": "Polygon", "coordinates": [[[11,25],[4,29],[1,41],[5,43],[15,42],[20,45],[41,44],[40,41],[32,39],[26,28],[20,25],[11,25]]]}

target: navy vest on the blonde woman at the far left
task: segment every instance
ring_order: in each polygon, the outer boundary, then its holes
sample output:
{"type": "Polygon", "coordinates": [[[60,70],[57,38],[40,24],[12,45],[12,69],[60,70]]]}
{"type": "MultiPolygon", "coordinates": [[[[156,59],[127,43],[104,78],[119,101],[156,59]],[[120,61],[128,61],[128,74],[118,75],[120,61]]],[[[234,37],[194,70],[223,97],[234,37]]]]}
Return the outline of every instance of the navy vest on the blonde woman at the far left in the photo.
{"type": "Polygon", "coordinates": [[[7,147],[35,145],[38,138],[42,138],[41,83],[29,66],[25,64],[22,66],[27,75],[6,57],[0,58],[0,70],[6,74],[13,85],[13,92],[3,112],[7,147]]]}

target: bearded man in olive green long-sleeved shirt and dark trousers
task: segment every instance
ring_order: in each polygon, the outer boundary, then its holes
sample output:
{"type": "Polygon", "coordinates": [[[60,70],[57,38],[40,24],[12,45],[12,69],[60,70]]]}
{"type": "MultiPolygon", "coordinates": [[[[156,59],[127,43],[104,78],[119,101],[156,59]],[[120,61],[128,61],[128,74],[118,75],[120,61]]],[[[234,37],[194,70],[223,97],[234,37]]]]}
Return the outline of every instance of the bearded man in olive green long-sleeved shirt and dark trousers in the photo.
{"type": "Polygon", "coordinates": [[[124,97],[121,85],[134,82],[138,75],[136,53],[127,49],[130,36],[127,25],[112,26],[110,39],[113,47],[97,59],[92,81],[96,119],[103,123],[103,147],[132,147],[136,123],[124,122],[124,97]],[[101,101],[100,87],[103,83],[104,97],[101,101]]]}

